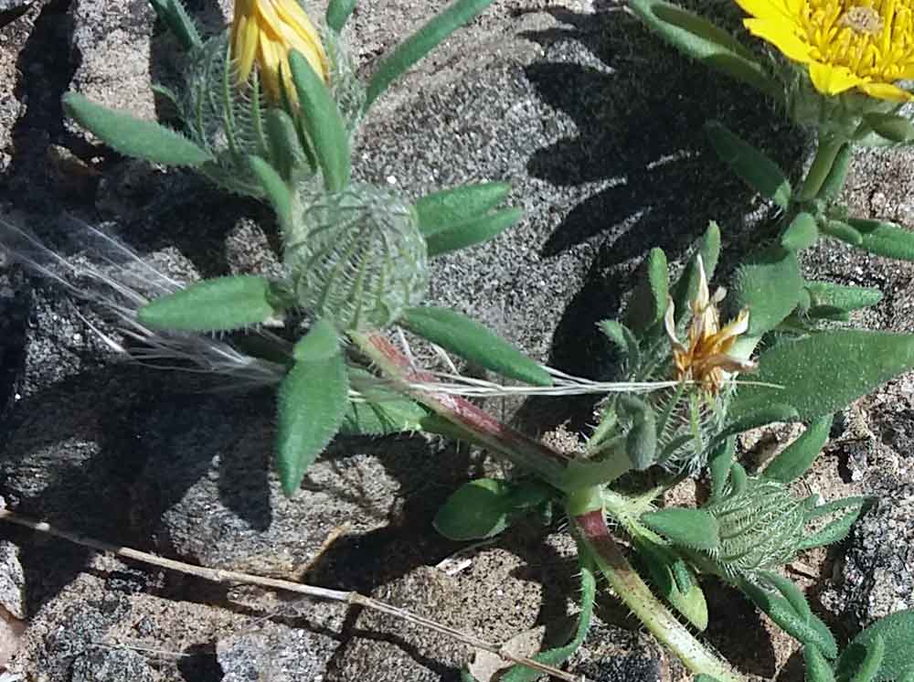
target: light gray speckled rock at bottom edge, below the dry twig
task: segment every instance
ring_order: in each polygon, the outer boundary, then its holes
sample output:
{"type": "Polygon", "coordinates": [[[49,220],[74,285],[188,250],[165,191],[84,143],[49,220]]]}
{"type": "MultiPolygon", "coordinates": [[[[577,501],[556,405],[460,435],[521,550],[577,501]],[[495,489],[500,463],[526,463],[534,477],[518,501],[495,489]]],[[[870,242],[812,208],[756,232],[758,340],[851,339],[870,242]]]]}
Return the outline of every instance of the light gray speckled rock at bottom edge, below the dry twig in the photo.
{"type": "Polygon", "coordinates": [[[222,682],[322,682],[338,643],[325,634],[270,623],[216,646],[222,682]]]}

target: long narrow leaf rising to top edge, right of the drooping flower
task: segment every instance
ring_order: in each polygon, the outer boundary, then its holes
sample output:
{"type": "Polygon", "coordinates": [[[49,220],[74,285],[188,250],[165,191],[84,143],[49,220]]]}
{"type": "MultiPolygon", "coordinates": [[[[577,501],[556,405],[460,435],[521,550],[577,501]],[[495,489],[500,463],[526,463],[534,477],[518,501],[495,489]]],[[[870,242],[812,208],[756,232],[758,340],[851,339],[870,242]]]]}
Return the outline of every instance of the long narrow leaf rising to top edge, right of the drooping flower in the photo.
{"type": "Polygon", "coordinates": [[[492,2],[493,0],[457,0],[400,43],[393,54],[381,62],[368,82],[365,108],[370,107],[394,80],[424,58],[441,40],[470,22],[492,2]]]}

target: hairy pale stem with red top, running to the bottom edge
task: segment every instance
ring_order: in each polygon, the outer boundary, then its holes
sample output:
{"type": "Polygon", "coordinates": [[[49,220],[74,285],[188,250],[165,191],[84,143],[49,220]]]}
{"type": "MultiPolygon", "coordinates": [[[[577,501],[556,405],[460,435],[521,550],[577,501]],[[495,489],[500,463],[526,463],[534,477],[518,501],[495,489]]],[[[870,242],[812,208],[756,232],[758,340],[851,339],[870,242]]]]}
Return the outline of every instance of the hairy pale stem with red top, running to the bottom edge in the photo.
{"type": "Polygon", "coordinates": [[[679,656],[696,675],[709,675],[719,682],[746,682],[729,664],[707,650],[663,603],[625,559],[610,535],[602,510],[573,517],[579,538],[593,554],[616,596],[628,606],[661,643],[679,656]]]}

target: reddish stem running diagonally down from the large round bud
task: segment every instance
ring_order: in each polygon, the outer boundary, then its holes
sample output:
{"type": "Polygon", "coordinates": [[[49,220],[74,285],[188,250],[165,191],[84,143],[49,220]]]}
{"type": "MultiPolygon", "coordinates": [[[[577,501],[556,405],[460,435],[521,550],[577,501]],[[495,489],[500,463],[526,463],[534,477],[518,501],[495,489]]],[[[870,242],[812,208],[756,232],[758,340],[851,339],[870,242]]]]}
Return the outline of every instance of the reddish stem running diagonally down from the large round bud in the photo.
{"type": "Polygon", "coordinates": [[[456,424],[461,431],[469,432],[476,442],[493,453],[534,472],[547,484],[565,490],[565,468],[569,462],[567,455],[512,429],[469,400],[443,392],[414,388],[411,385],[413,382],[429,384],[435,378],[428,372],[413,368],[386,336],[377,332],[349,332],[349,338],[413,400],[456,424]]]}

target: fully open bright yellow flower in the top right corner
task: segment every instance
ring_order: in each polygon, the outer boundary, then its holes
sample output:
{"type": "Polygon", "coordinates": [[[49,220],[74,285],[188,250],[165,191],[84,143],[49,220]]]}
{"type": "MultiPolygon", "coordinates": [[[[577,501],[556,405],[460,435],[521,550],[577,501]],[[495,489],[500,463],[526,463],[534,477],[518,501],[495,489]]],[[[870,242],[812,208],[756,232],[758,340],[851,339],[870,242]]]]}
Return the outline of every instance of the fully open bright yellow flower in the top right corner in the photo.
{"type": "Polygon", "coordinates": [[[856,88],[880,100],[911,101],[912,0],[737,0],[749,32],[809,68],[825,95],[856,88]]]}

